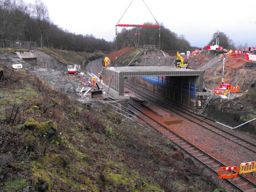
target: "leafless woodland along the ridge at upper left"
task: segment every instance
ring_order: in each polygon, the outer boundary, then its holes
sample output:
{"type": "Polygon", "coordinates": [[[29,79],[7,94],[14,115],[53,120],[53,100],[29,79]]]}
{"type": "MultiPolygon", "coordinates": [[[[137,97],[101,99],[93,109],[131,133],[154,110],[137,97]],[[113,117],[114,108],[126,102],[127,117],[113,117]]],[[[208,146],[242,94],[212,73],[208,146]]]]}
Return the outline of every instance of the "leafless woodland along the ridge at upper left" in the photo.
{"type": "Polygon", "coordinates": [[[50,21],[48,9],[36,0],[26,4],[22,0],[0,0],[0,39],[36,41],[41,47],[72,51],[110,51],[113,43],[92,35],[77,35],[50,21]]]}

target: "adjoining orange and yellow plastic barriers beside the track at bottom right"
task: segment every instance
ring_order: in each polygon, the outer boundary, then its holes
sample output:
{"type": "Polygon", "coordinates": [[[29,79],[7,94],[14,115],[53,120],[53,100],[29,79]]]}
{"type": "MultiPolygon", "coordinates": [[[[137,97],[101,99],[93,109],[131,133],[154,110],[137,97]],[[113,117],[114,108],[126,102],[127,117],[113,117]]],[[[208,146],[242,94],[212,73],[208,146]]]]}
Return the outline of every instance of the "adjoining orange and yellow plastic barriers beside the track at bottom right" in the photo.
{"type": "Polygon", "coordinates": [[[254,173],[256,172],[256,162],[248,162],[248,163],[241,163],[240,168],[238,166],[234,167],[221,167],[219,169],[218,175],[219,179],[230,179],[236,178],[238,173],[245,174],[245,173],[254,173]]]}

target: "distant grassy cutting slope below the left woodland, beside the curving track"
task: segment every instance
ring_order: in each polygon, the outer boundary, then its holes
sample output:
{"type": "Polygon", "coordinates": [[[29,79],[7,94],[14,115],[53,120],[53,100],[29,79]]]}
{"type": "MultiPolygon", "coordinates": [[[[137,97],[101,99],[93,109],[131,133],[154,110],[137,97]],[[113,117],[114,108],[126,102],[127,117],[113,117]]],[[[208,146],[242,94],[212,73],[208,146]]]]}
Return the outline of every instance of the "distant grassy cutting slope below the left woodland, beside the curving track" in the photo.
{"type": "Polygon", "coordinates": [[[89,53],[89,52],[73,52],[73,51],[67,51],[67,50],[59,50],[59,49],[48,49],[44,48],[40,49],[47,54],[50,54],[55,59],[59,60],[60,62],[67,64],[67,65],[81,65],[81,68],[84,69],[85,65],[89,63],[92,60],[104,57],[104,54],[102,52],[96,52],[89,53]]]}

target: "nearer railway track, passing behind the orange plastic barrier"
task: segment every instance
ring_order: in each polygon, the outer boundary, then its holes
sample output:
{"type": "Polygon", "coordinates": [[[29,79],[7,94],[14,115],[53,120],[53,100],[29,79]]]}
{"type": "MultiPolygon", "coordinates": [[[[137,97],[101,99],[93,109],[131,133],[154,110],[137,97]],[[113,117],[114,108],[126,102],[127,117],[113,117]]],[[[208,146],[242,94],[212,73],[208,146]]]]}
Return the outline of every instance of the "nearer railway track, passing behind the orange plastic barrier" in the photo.
{"type": "MultiPolygon", "coordinates": [[[[135,107],[131,103],[128,103],[128,108],[133,112],[137,113],[138,117],[143,121],[147,122],[150,126],[154,129],[159,131],[160,133],[166,135],[168,138],[172,140],[177,146],[182,148],[186,151],[189,155],[196,158],[199,162],[210,168],[213,172],[218,174],[218,170],[220,167],[226,167],[227,165],[221,163],[213,156],[207,154],[200,148],[197,148],[192,143],[188,142],[187,140],[180,137],[178,134],[169,130],[166,126],[156,121],[154,118],[148,116],[146,113],[141,111],[139,108],[135,107]]],[[[234,179],[226,179],[228,183],[239,189],[240,191],[244,192],[253,192],[256,191],[256,184],[252,181],[246,179],[244,176],[238,174],[237,178],[234,179]]]]}

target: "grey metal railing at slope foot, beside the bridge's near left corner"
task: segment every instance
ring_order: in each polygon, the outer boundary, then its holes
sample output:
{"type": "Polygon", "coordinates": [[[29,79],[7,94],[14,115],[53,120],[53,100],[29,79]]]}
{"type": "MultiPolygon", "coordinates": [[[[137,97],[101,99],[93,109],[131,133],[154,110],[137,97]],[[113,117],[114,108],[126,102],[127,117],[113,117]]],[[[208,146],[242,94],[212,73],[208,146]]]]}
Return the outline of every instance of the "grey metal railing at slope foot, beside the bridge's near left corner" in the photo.
{"type": "Polygon", "coordinates": [[[108,104],[112,107],[114,107],[114,111],[122,116],[125,116],[126,118],[131,119],[132,121],[137,121],[137,113],[133,112],[132,110],[126,108],[125,106],[121,105],[120,103],[103,96],[102,97],[102,102],[104,102],[105,104],[108,104]],[[108,99],[109,101],[105,101],[105,99],[108,99]]]}

